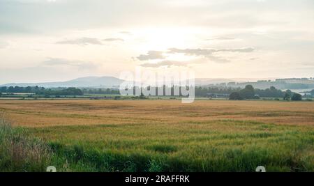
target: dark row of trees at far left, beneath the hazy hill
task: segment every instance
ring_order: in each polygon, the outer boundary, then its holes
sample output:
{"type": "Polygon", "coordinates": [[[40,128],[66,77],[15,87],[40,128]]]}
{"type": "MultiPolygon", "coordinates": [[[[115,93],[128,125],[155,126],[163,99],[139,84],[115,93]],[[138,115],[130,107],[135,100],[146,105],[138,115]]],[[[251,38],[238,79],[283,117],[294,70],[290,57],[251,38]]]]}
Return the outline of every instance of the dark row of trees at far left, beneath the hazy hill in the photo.
{"type": "Polygon", "coordinates": [[[0,93],[35,93],[36,95],[83,95],[79,88],[44,88],[39,86],[2,86],[0,93]]]}

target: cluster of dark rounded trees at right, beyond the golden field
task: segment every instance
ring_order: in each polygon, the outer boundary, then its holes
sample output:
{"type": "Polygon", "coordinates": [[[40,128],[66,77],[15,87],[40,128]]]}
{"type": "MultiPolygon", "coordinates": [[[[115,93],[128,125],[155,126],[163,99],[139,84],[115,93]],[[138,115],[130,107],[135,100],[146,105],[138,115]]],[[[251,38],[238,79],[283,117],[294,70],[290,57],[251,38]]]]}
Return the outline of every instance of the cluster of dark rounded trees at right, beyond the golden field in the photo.
{"type": "Polygon", "coordinates": [[[276,89],[274,86],[265,90],[254,89],[252,85],[247,85],[240,91],[233,92],[230,94],[230,100],[244,100],[244,99],[260,99],[264,98],[283,98],[283,100],[302,100],[302,95],[299,93],[292,93],[292,91],[281,91],[276,89]]]}

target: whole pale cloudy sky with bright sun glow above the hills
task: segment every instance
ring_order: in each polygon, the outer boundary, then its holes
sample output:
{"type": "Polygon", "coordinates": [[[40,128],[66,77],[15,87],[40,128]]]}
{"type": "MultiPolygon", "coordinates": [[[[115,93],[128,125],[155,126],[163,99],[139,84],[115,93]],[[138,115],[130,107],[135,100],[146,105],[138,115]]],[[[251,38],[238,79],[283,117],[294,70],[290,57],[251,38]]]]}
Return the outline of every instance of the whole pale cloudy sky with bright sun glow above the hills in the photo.
{"type": "Polygon", "coordinates": [[[313,0],[0,0],[0,84],[314,77],[313,0]]]}

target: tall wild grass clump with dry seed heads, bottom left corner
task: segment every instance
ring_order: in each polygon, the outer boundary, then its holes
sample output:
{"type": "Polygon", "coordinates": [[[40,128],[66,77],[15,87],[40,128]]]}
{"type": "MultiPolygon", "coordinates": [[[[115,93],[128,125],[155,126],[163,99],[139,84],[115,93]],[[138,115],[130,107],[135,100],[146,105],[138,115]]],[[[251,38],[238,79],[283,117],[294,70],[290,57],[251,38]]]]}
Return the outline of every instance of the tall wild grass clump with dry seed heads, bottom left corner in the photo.
{"type": "Polygon", "coordinates": [[[50,158],[47,144],[27,137],[0,114],[0,171],[45,171],[50,158]]]}

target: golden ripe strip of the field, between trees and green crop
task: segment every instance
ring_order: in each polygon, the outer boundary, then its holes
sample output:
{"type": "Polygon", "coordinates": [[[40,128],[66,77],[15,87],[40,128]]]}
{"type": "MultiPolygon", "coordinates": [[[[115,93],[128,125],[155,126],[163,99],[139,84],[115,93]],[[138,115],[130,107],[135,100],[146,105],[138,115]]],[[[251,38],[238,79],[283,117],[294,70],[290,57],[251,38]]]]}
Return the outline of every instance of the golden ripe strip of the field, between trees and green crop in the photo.
{"type": "Polygon", "coordinates": [[[314,126],[314,102],[202,100],[0,100],[14,125],[206,122],[220,119],[314,126]]]}

